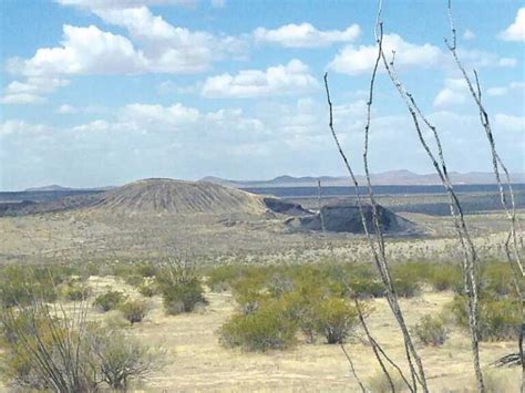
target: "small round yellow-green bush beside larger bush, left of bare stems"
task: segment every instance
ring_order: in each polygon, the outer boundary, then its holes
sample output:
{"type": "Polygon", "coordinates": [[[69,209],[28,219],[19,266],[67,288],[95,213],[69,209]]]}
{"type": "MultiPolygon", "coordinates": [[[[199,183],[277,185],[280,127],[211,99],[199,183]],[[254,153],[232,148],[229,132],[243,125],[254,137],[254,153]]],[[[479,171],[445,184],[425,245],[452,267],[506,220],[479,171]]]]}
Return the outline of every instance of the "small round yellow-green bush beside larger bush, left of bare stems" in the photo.
{"type": "Polygon", "coordinates": [[[344,299],[330,297],[315,307],[316,330],[329,344],[342,343],[357,321],[357,310],[344,299]]]}

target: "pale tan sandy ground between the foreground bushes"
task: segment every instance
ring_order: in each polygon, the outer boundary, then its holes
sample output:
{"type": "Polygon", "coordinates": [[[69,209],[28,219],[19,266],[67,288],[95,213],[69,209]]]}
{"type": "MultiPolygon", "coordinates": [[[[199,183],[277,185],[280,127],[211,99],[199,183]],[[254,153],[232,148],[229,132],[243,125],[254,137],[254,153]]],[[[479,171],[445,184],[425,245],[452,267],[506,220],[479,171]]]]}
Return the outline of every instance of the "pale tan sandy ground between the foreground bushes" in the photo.
{"type": "MultiPolygon", "coordinates": [[[[103,289],[111,279],[94,279],[103,289]]],[[[117,285],[116,287],[121,287],[117,285]]],[[[114,286],[115,287],[115,286],[114,286]]],[[[115,288],[116,288],[115,287],[115,288]]],[[[121,287],[122,288],[122,287],[121,287]]],[[[451,301],[451,292],[425,292],[419,298],[402,300],[406,322],[413,325],[425,313],[439,312],[451,301]]],[[[358,392],[349,364],[338,345],[299,342],[288,351],[246,353],[220,347],[217,331],[235,312],[229,293],[207,293],[209,304],[195,313],[168,317],[161,299],[152,299],[152,311],[132,331],[143,342],[162,345],[168,353],[168,365],[156,372],[143,386],[146,392],[358,392]]],[[[383,299],[373,300],[369,317],[372,334],[399,364],[404,364],[401,334],[383,299]]],[[[100,314],[99,314],[100,316],[100,314]]],[[[367,381],[378,366],[369,347],[357,331],[347,345],[358,375],[367,381]]],[[[483,343],[481,358],[487,366],[498,356],[515,351],[514,342],[483,343]]],[[[432,392],[473,392],[473,371],[469,338],[453,330],[441,348],[420,348],[432,392]]],[[[497,378],[500,392],[517,392],[518,369],[488,368],[488,378],[497,378]],[[502,390],[503,389],[503,390],[502,390]]]]}

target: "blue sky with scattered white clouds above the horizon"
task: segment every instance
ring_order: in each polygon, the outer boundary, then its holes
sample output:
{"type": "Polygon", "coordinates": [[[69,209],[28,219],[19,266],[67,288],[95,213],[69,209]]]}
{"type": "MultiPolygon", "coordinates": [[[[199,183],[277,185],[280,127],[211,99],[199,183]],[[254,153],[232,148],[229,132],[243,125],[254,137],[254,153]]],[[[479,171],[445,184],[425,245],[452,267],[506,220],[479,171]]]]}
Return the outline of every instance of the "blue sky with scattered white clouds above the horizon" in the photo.
{"type": "MultiPolygon", "coordinates": [[[[453,1],[498,152],[524,172],[525,7],[453,1]]],[[[138,178],[362,173],[374,1],[0,0],[0,190],[138,178]]],[[[490,172],[477,107],[444,38],[446,0],[383,0],[383,48],[442,136],[449,169],[490,172]]],[[[425,131],[425,135],[430,136],[425,131]]],[[[380,68],[371,172],[431,173],[380,68]]]]}

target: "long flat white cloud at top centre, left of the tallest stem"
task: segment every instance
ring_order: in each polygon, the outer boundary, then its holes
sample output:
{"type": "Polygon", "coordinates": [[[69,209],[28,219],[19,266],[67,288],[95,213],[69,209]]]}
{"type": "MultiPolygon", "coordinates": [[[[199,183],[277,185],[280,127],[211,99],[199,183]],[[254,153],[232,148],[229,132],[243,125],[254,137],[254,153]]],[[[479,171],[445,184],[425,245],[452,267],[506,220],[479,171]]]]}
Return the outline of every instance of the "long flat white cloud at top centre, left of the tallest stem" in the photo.
{"type": "Polygon", "coordinates": [[[275,30],[257,28],[255,40],[280,44],[286,48],[318,48],[328,46],[334,42],[352,42],[359,38],[359,24],[352,24],[346,30],[318,30],[310,23],[286,24],[275,30]]]}

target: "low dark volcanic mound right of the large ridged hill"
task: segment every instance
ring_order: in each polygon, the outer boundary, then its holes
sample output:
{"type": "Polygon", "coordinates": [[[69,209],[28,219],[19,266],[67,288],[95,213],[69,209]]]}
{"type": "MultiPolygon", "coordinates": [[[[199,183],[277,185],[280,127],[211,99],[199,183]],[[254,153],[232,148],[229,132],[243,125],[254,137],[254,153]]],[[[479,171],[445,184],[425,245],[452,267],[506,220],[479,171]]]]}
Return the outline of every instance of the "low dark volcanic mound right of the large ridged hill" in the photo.
{"type": "MultiPolygon", "coordinates": [[[[373,231],[373,213],[372,207],[363,206],[367,227],[373,231]]],[[[378,213],[382,229],[384,232],[405,232],[414,227],[414,225],[395,215],[394,213],[378,206],[378,213]]],[[[359,208],[356,205],[336,205],[323,206],[321,208],[325,228],[332,232],[351,232],[364,234],[363,225],[359,208]]],[[[321,230],[321,216],[316,214],[308,217],[289,220],[292,227],[306,230],[321,230]]]]}

